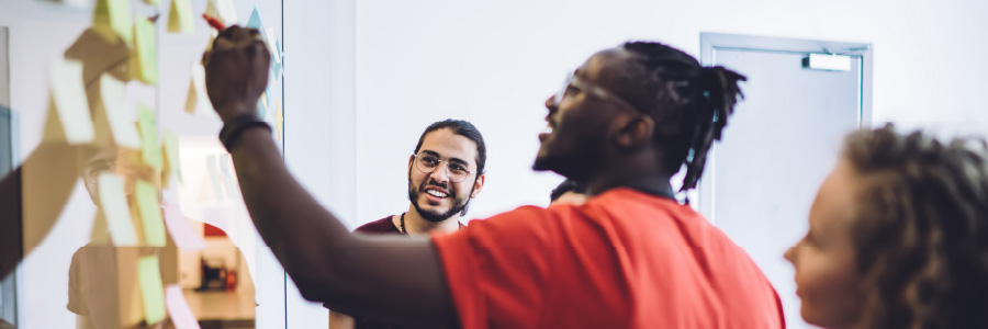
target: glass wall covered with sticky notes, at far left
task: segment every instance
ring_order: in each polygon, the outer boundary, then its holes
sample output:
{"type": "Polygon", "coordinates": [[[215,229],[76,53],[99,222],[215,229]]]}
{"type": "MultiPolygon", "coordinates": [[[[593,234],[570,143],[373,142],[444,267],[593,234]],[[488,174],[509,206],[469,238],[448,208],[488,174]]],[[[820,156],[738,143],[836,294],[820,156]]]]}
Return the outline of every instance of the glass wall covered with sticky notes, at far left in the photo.
{"type": "Polygon", "coordinates": [[[200,64],[216,33],[203,13],[260,29],[276,58],[258,114],[280,139],[281,8],[0,3],[0,239],[18,241],[0,246],[0,328],[283,321],[284,277],[217,141],[200,64]]]}

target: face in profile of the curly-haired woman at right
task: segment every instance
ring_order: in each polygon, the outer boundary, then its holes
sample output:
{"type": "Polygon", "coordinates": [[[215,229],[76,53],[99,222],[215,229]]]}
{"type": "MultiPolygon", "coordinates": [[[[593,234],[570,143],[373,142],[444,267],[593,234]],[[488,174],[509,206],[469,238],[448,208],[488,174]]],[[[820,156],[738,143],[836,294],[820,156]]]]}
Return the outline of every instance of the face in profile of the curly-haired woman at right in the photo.
{"type": "Polygon", "coordinates": [[[862,318],[865,294],[851,236],[861,181],[852,164],[841,161],[817,193],[809,231],[785,253],[796,269],[802,318],[823,328],[854,328],[862,318]]]}

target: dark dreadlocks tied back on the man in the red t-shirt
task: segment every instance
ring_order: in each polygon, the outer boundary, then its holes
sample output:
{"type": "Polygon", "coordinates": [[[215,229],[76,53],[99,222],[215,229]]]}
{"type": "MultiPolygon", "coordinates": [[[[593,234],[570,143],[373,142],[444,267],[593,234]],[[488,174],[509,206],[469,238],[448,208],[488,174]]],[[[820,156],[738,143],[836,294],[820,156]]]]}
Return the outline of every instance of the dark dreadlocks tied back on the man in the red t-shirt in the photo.
{"type": "Polygon", "coordinates": [[[695,189],[704,173],[707,152],[720,140],[746,78],[721,66],[704,67],[680,49],[650,42],[629,42],[622,47],[638,55],[624,72],[628,86],[619,93],[639,111],[655,120],[655,135],[667,149],[663,169],[670,174],[686,166],[680,191],[695,189]]]}

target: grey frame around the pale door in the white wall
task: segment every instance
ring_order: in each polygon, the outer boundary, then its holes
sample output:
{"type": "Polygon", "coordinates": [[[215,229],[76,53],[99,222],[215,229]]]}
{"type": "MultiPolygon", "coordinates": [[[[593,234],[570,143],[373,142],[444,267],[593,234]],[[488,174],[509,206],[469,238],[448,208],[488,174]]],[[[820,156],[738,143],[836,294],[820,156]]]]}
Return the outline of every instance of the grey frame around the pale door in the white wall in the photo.
{"type": "MultiPolygon", "coordinates": [[[[857,88],[857,126],[866,128],[872,126],[872,64],[873,46],[866,43],[812,41],[785,37],[754,36],[725,33],[700,33],[700,64],[711,66],[717,64],[717,50],[749,50],[786,54],[827,53],[858,57],[861,78],[857,88]]],[[[714,214],[714,159],[717,157],[717,144],[710,146],[707,155],[707,174],[700,178],[697,184],[697,208],[711,224],[716,225],[714,214]]]]}

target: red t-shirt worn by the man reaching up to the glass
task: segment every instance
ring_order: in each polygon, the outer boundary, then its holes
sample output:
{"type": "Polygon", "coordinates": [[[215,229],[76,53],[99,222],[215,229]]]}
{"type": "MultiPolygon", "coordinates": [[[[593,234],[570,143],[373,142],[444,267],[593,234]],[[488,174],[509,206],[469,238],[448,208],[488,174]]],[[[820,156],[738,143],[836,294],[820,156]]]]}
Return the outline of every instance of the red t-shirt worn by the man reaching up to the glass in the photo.
{"type": "Polygon", "coordinates": [[[785,328],[744,250],[669,198],[616,189],[431,239],[465,329],[785,328]]]}

